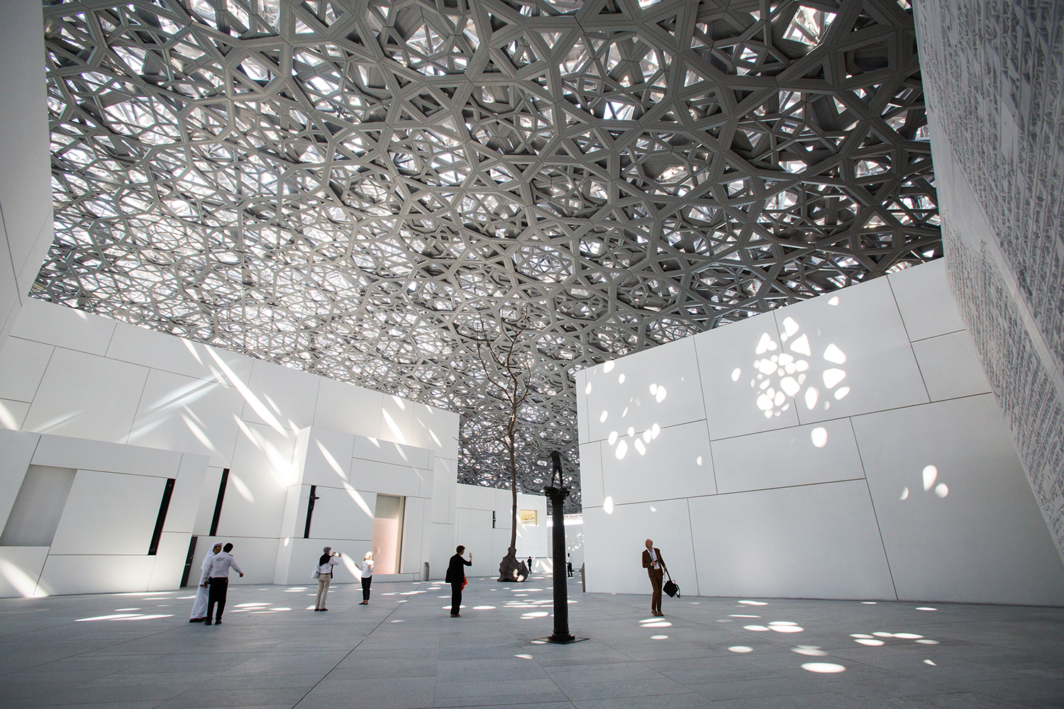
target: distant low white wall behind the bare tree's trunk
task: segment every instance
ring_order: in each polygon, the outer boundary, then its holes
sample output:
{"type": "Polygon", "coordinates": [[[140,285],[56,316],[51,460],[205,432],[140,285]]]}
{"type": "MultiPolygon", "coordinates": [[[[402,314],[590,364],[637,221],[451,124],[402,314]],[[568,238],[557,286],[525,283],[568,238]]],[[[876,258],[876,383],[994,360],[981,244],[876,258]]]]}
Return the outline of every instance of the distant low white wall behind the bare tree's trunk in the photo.
{"type": "MultiPolygon", "coordinates": [[[[547,499],[543,495],[517,493],[517,509],[534,509],[538,524],[518,524],[517,558],[533,557],[533,571],[544,571],[547,557],[549,527],[547,526],[547,499]]],[[[450,547],[433,548],[432,575],[443,578],[447,572],[447,560],[454,554],[454,547],[462,544],[472,552],[472,567],[466,569],[469,576],[499,576],[499,562],[510,548],[511,517],[513,497],[510,490],[485,488],[477,485],[459,485],[455,504],[458,524],[455,540],[450,547]],[[492,513],[495,525],[492,525],[492,513]]]]}

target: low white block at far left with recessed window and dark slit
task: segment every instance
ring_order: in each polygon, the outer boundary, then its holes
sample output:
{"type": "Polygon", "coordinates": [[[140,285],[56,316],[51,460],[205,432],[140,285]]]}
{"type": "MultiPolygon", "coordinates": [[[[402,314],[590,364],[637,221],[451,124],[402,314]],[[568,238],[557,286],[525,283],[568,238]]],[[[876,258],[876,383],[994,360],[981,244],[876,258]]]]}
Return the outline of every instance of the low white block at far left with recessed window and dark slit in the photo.
{"type": "Polygon", "coordinates": [[[0,546],[0,597],[177,588],[206,462],[190,453],[0,431],[0,528],[30,466],[73,473],[51,543],[0,546]],[[149,556],[166,478],[174,486],[149,556]]]}

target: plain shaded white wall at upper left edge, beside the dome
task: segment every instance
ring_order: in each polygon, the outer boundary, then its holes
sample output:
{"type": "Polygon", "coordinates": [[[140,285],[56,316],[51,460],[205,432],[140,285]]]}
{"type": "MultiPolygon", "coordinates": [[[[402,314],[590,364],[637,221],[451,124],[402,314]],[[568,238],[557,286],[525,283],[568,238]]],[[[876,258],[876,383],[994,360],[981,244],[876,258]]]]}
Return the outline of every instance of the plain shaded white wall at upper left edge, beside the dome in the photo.
{"type": "Polygon", "coordinates": [[[0,22],[0,347],[52,242],[41,26],[39,1],[4,1],[0,22]]]}

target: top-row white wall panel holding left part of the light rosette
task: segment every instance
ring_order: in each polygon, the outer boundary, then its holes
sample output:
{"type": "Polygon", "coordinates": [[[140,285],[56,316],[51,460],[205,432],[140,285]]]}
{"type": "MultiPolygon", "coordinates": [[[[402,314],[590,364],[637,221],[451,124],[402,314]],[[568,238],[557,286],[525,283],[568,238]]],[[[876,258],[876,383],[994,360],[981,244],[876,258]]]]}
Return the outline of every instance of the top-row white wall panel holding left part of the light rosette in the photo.
{"type": "Polygon", "coordinates": [[[782,377],[772,377],[769,385],[762,389],[765,374],[758,371],[753,364],[782,354],[771,313],[702,333],[692,339],[698,353],[705,421],[711,438],[716,440],[798,424],[795,402],[791,396],[783,394],[780,403],[775,403],[776,392],[782,391],[782,377]],[[772,389],[769,396],[774,400],[772,404],[761,399],[767,395],[769,388],[772,389]]]}

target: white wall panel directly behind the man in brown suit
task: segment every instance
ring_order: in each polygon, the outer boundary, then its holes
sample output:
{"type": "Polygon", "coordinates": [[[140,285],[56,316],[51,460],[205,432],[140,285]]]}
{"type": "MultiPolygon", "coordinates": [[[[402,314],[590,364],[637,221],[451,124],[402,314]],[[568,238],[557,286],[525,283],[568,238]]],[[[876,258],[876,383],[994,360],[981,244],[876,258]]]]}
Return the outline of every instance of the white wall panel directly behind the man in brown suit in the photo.
{"type": "Polygon", "coordinates": [[[649,595],[650,579],[643,568],[644,542],[648,538],[662,551],[681,591],[697,595],[686,500],[616,505],[612,514],[601,507],[584,509],[587,590],[649,595]]]}

